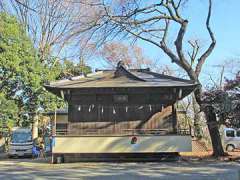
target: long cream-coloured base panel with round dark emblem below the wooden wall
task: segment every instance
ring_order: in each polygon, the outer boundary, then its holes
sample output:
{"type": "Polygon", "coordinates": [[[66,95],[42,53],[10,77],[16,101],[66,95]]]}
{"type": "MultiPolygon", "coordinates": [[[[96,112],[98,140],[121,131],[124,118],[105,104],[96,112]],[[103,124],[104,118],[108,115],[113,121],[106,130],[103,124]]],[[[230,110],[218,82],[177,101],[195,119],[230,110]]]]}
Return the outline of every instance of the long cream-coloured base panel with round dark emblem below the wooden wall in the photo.
{"type": "Polygon", "coordinates": [[[54,154],[192,151],[191,136],[57,136],[53,139],[54,154]]]}

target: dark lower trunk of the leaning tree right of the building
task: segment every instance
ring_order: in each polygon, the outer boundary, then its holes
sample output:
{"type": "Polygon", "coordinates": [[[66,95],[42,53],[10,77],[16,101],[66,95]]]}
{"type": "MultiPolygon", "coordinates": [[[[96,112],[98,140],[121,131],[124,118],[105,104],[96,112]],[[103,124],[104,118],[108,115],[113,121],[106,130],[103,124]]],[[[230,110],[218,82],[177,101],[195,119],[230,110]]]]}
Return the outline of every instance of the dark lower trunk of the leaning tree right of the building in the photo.
{"type": "Polygon", "coordinates": [[[213,107],[212,106],[205,107],[204,113],[207,119],[208,130],[212,141],[213,156],[215,157],[224,156],[222,141],[217,125],[217,118],[213,107]]]}

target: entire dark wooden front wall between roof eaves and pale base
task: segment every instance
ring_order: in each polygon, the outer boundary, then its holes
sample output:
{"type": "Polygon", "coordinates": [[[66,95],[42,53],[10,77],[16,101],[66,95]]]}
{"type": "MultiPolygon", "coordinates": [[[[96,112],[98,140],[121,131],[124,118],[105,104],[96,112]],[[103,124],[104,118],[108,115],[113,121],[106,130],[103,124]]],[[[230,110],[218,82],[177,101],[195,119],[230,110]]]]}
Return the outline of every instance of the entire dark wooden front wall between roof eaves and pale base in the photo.
{"type": "Polygon", "coordinates": [[[69,101],[68,133],[104,135],[146,133],[145,130],[172,133],[176,116],[171,93],[73,93],[69,101]],[[124,97],[116,101],[116,95],[124,97]]]}

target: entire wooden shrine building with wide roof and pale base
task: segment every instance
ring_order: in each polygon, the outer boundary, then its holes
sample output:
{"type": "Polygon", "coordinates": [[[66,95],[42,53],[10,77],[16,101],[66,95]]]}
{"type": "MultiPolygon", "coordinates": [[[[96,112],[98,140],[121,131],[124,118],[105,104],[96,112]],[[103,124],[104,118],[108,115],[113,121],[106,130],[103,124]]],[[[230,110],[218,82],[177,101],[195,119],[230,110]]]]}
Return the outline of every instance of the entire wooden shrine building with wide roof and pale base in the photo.
{"type": "Polygon", "coordinates": [[[45,85],[68,102],[67,133],[53,134],[53,159],[191,151],[191,136],[178,129],[174,104],[196,86],[122,63],[45,85]]]}

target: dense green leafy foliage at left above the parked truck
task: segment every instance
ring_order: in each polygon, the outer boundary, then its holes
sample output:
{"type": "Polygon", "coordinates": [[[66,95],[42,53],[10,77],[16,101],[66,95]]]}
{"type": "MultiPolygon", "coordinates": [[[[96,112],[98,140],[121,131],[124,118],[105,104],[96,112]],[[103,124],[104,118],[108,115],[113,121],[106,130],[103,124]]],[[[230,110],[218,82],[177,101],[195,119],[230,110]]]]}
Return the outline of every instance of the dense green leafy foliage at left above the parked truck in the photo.
{"type": "Polygon", "coordinates": [[[47,81],[91,72],[83,62],[39,60],[32,41],[16,18],[0,13],[0,120],[28,125],[35,113],[63,107],[64,101],[47,92],[47,81]]]}

